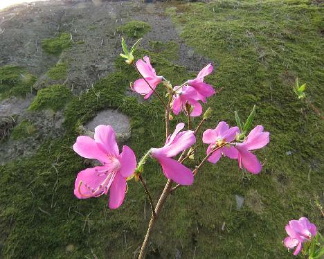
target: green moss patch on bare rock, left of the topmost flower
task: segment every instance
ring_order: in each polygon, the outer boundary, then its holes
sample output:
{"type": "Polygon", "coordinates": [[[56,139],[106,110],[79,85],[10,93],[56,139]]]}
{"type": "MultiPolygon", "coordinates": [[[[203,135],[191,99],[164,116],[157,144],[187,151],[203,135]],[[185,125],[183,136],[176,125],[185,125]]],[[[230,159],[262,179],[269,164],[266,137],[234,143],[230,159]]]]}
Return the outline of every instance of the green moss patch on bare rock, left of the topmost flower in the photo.
{"type": "Polygon", "coordinates": [[[53,109],[58,111],[63,109],[71,99],[72,93],[64,85],[54,84],[37,92],[37,96],[28,109],[37,111],[42,109],[53,109]]]}

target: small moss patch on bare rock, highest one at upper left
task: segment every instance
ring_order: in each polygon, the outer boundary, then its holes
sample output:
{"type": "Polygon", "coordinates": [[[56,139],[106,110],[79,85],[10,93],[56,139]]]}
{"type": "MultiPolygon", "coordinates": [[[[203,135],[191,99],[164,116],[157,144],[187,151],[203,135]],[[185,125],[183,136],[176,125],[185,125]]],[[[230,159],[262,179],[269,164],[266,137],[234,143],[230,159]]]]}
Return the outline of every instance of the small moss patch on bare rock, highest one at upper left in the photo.
{"type": "Polygon", "coordinates": [[[60,33],[54,38],[42,40],[42,48],[48,54],[60,55],[64,49],[70,46],[72,46],[72,42],[69,33],[60,33]]]}

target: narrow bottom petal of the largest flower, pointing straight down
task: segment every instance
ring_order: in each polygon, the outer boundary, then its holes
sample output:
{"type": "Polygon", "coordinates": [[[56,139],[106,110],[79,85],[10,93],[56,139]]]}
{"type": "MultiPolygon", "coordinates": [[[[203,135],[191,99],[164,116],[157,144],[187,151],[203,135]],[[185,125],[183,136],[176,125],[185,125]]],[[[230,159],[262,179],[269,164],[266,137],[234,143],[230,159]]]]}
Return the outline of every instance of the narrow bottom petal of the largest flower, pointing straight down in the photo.
{"type": "Polygon", "coordinates": [[[115,209],[123,204],[126,192],[126,179],[120,174],[117,174],[110,187],[109,193],[109,208],[115,209]]]}

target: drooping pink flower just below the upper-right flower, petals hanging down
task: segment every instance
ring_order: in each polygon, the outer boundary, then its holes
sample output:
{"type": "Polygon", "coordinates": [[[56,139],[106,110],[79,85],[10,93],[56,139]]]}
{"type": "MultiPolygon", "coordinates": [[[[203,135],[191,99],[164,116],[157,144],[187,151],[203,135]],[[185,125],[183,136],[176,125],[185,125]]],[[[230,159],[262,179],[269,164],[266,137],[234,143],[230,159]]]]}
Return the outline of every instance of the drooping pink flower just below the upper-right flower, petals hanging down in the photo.
{"type": "Polygon", "coordinates": [[[178,115],[180,111],[184,111],[187,114],[186,111],[186,102],[193,108],[192,112],[190,113],[190,116],[200,116],[202,113],[202,107],[198,100],[200,99],[199,93],[188,85],[185,85],[184,87],[174,87],[175,95],[173,96],[173,102],[172,102],[172,111],[174,114],[178,115]]]}

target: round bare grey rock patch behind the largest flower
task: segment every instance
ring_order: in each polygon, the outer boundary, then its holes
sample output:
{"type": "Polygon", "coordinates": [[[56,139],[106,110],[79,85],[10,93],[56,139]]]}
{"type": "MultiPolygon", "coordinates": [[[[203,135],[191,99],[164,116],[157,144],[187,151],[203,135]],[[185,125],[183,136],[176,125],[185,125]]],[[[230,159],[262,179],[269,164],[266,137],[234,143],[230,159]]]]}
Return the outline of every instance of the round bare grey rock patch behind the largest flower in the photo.
{"type": "Polygon", "coordinates": [[[101,124],[113,127],[119,144],[125,143],[131,136],[129,118],[120,111],[113,109],[100,111],[93,120],[84,125],[84,132],[93,137],[95,128],[101,124]]]}

